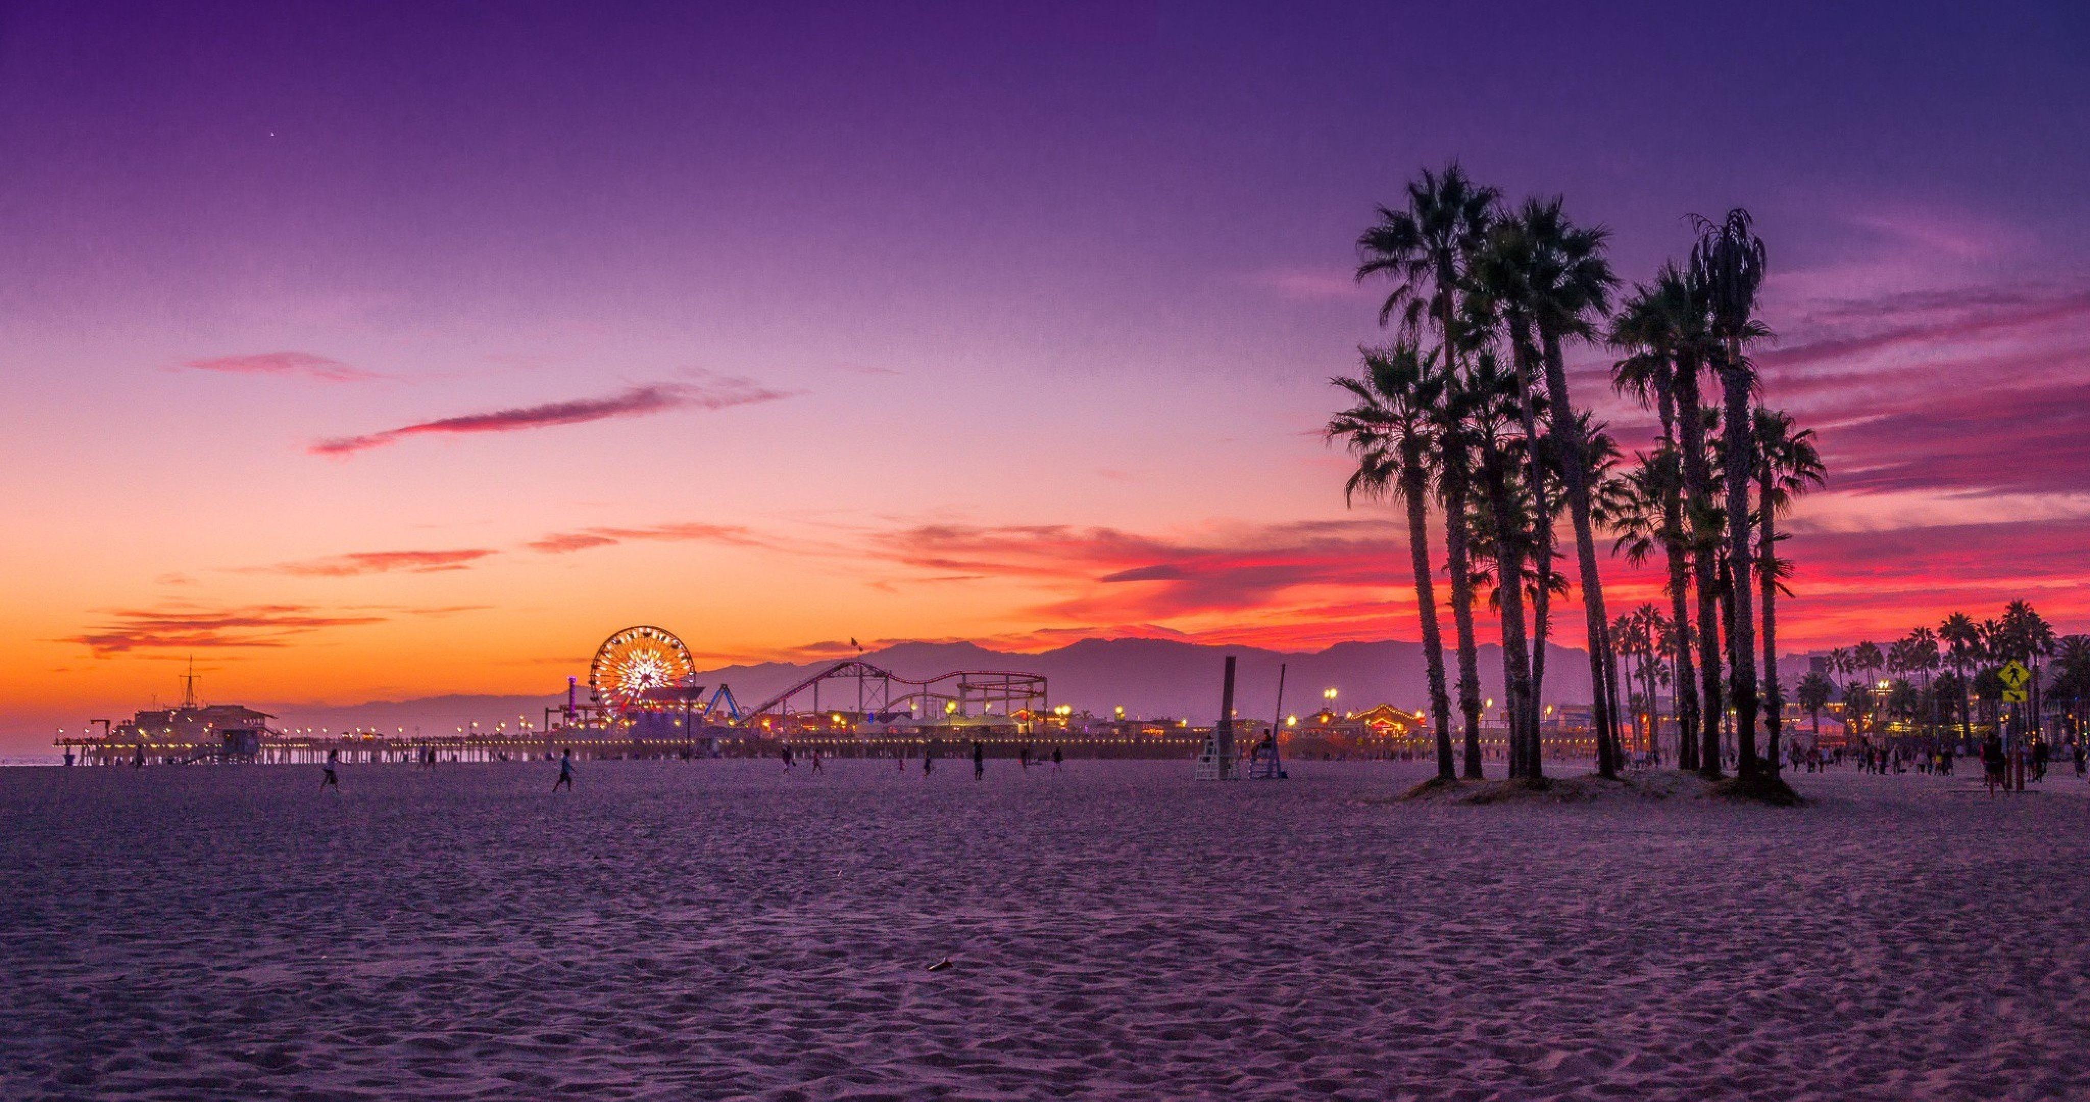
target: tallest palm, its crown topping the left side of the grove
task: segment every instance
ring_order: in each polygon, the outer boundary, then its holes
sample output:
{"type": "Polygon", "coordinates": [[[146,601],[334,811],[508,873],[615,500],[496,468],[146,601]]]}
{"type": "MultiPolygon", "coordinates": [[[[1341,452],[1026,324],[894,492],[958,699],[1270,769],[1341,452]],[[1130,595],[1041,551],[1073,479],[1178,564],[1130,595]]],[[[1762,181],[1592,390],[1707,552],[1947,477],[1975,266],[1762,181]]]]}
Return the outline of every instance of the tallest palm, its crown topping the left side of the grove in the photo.
{"type": "MultiPolygon", "coordinates": [[[[1473,184],[1459,163],[1442,174],[1423,169],[1407,186],[1407,207],[1377,207],[1379,220],[1356,238],[1356,282],[1384,276],[1394,289],[1379,305],[1379,324],[1400,316],[1409,332],[1434,324],[1444,349],[1444,374],[1461,378],[1461,353],[1471,347],[1459,326],[1465,309],[1467,272],[1473,255],[1486,245],[1488,217],[1499,192],[1473,184]]],[[[1446,395],[1450,397],[1450,395],[1446,395]]],[[[1457,418],[1440,420],[1455,422],[1457,418]]],[[[1446,496],[1444,548],[1450,558],[1453,619],[1461,629],[1459,705],[1465,711],[1465,774],[1480,778],[1480,678],[1471,646],[1473,604],[1467,588],[1465,508],[1467,483],[1463,470],[1440,473],[1446,496]],[[1448,475],[1448,479],[1446,479],[1448,475]],[[1455,508],[1453,498],[1461,504],[1455,508]]]]}

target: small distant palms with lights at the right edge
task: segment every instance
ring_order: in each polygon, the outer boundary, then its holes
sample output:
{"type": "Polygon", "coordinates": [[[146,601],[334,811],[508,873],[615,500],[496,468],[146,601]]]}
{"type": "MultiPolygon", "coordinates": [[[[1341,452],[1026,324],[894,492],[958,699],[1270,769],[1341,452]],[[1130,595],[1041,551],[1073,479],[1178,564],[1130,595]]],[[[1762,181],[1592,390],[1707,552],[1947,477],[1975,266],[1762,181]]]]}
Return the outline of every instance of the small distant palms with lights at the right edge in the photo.
{"type": "Polygon", "coordinates": [[[2027,730],[2044,730],[2046,705],[2059,701],[2061,719],[2075,732],[2090,701],[2090,636],[2057,638],[2025,600],[2008,602],[1996,619],[1952,613],[1937,627],[1917,627],[1885,646],[1831,648],[1825,669],[1802,678],[1797,698],[1816,728],[1820,711],[1839,701],[1850,732],[1883,738],[1887,724],[1902,719],[1933,740],[1952,730],[1965,747],[1973,742],[1977,709],[1983,724],[1996,721],[2004,696],[2000,669],[2011,661],[2031,675],[2023,703],[2027,730]]]}

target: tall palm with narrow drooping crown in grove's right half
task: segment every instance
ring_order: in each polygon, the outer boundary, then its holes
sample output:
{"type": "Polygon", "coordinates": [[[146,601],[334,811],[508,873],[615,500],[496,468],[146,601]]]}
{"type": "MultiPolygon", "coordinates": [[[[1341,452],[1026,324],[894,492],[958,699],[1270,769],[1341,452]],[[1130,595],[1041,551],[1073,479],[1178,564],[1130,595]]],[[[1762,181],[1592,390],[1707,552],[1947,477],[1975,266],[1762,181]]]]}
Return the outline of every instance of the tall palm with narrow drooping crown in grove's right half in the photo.
{"type": "Polygon", "coordinates": [[[1720,343],[1720,393],[1726,422],[1726,544],[1735,571],[1733,640],[1728,646],[1728,692],[1735,701],[1737,770],[1756,776],[1756,609],[1749,592],[1749,397],[1756,370],[1743,347],[1768,335],[1756,320],[1756,299],[1764,286],[1764,240],[1751,228],[1749,211],[1735,207],[1722,222],[1697,217],[1699,240],[1691,249],[1691,278],[1705,293],[1712,332],[1720,343]]]}

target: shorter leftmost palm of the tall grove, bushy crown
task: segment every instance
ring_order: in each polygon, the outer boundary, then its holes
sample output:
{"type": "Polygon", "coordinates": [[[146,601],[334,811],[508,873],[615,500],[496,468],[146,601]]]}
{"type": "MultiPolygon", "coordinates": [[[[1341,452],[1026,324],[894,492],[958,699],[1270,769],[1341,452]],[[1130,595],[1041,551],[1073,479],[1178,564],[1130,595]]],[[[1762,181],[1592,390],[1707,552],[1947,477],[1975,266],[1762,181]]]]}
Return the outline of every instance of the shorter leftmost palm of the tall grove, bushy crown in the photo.
{"type": "Polygon", "coordinates": [[[1409,558],[1430,675],[1430,713],[1436,719],[1438,780],[1455,780],[1444,638],[1430,583],[1430,475],[1423,464],[1423,454],[1436,443],[1434,418],[1444,397],[1444,376],[1436,370],[1434,353],[1421,353],[1413,341],[1398,341],[1384,351],[1365,349],[1363,374],[1333,383],[1356,399],[1356,406],[1327,422],[1327,439],[1344,439],[1358,460],[1344,485],[1344,502],[1358,493],[1398,493],[1409,508],[1409,558]]]}

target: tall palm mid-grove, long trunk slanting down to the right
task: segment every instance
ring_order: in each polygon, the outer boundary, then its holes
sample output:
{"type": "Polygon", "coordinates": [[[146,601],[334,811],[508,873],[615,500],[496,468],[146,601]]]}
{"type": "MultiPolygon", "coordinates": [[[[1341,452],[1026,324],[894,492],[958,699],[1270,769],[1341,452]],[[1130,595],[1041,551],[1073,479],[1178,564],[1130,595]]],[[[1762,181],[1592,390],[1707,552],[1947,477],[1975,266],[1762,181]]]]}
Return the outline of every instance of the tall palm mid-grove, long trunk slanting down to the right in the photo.
{"type": "Polygon", "coordinates": [[[1568,519],[1574,527],[1576,565],[1582,575],[1582,611],[1590,650],[1593,726],[1597,728],[1597,774],[1618,776],[1618,732],[1603,686],[1611,684],[1603,609],[1603,575],[1597,569],[1597,537],[1588,483],[1586,441],[1580,433],[1574,401],[1568,395],[1568,341],[1597,337],[1595,320],[1611,307],[1618,276],[1603,251],[1611,232],[1601,226],[1576,226],[1561,211],[1559,199],[1528,199],[1513,215],[1503,215],[1494,234],[1494,253],[1503,266],[1515,268],[1505,295],[1515,299],[1538,339],[1547,378],[1555,447],[1561,481],[1568,485],[1568,519]]]}

